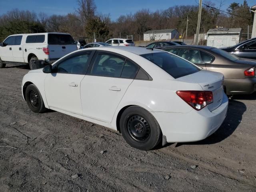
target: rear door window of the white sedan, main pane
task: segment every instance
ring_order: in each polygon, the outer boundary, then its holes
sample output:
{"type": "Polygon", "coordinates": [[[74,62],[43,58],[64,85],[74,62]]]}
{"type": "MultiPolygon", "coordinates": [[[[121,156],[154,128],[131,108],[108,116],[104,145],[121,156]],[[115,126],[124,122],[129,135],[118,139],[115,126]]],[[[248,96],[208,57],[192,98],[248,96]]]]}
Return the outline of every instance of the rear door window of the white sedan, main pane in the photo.
{"type": "Polygon", "coordinates": [[[109,53],[98,53],[90,74],[98,76],[120,77],[125,59],[109,53]]]}

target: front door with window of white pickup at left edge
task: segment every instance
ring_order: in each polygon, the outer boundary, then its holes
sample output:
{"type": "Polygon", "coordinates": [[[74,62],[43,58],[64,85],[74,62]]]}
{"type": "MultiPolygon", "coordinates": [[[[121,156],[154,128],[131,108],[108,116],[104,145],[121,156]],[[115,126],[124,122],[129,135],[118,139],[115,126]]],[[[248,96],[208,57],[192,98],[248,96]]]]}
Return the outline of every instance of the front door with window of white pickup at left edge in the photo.
{"type": "Polygon", "coordinates": [[[6,38],[3,42],[3,46],[1,47],[1,59],[2,61],[10,61],[13,62],[12,56],[12,45],[14,44],[15,36],[10,36],[6,38]]]}

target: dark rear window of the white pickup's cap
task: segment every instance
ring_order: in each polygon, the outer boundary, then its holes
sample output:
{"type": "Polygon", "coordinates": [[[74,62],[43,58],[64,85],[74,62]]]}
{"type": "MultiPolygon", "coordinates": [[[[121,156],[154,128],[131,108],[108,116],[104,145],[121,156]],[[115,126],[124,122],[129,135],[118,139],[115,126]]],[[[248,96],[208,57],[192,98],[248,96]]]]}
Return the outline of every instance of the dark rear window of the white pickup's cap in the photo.
{"type": "Polygon", "coordinates": [[[74,39],[69,34],[48,34],[49,45],[68,45],[76,44],[74,39]]]}

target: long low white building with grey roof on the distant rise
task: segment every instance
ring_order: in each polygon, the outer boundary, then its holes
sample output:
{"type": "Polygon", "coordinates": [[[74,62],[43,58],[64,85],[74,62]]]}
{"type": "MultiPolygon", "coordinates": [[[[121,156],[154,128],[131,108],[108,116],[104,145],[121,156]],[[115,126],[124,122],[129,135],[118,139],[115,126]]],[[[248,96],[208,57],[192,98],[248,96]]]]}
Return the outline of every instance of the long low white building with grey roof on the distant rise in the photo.
{"type": "Polygon", "coordinates": [[[143,39],[144,41],[171,40],[178,39],[179,36],[177,29],[149,30],[144,32],[143,39]]]}

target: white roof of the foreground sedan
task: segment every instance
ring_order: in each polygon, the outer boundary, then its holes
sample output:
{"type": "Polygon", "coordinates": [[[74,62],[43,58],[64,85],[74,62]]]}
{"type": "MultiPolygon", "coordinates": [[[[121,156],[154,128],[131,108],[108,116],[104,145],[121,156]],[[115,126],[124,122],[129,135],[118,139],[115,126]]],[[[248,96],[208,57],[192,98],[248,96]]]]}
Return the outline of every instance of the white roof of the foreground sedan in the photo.
{"type": "MultiPolygon", "coordinates": [[[[148,53],[156,53],[156,52],[162,52],[158,49],[146,49],[144,47],[134,47],[134,46],[103,46],[103,47],[94,47],[94,48],[88,48],[92,50],[105,50],[105,51],[111,51],[115,52],[115,50],[123,50],[123,51],[128,51],[137,55],[142,55],[142,54],[148,54],[148,53]]],[[[86,48],[86,50],[88,50],[86,48]]],[[[82,51],[82,50],[79,50],[82,51]]]]}

